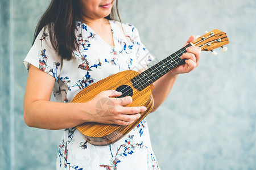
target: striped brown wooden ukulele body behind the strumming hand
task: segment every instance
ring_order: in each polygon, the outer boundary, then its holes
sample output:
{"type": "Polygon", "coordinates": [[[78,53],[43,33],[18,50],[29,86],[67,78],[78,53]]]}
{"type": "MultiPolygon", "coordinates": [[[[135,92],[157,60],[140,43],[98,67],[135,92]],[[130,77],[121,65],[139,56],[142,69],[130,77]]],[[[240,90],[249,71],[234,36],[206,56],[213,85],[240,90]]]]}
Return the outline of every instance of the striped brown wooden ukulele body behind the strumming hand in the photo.
{"type": "MultiPolygon", "coordinates": [[[[141,117],[127,126],[100,124],[97,122],[86,122],[76,126],[77,130],[79,130],[84,135],[84,138],[87,142],[96,146],[110,145],[129,133],[129,131],[137,126],[139,122],[141,122],[143,118],[146,117],[148,113],[150,113],[154,106],[154,100],[151,95],[151,87],[147,86],[142,91],[138,91],[133,87],[131,82],[131,79],[138,74],[139,73],[137,71],[127,70],[121,71],[120,73],[114,75],[110,75],[107,78],[84,88],[73,98],[72,103],[84,103],[86,101],[92,100],[101,91],[117,90],[123,92],[129,90],[129,94],[132,97],[133,102],[129,105],[126,105],[126,107],[144,106],[147,108],[147,111],[141,112],[141,117]]],[[[101,110],[101,104],[108,104],[108,101],[106,100],[100,100],[97,102],[95,106],[96,113],[104,114],[104,112],[101,110]]],[[[111,107],[113,106],[109,105],[109,109],[113,109],[111,107]]]]}

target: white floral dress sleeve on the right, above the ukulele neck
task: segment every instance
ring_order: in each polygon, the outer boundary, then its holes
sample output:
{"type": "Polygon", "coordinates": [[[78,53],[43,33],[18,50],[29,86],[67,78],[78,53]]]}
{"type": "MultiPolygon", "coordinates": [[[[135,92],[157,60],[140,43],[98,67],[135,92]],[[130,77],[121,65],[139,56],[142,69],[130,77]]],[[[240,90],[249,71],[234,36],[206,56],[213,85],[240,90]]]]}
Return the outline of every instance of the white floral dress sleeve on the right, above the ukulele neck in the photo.
{"type": "MultiPolygon", "coordinates": [[[[134,43],[138,46],[137,48],[137,69],[141,70],[143,67],[148,66],[150,67],[150,63],[154,61],[155,57],[152,56],[152,54],[148,51],[148,49],[144,46],[144,44],[141,42],[141,39],[139,37],[139,32],[137,28],[133,28],[134,33],[134,43]]],[[[137,71],[138,71],[137,70],[137,71]]]]}

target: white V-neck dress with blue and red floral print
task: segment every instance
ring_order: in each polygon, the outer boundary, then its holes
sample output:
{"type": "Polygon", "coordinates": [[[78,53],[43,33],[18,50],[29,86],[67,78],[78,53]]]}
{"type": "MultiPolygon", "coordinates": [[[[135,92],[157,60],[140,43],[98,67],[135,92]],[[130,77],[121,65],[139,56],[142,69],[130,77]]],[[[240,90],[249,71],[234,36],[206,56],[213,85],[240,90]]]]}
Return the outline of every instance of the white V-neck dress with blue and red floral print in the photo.
{"type": "MultiPolygon", "coordinates": [[[[68,103],[82,89],[109,75],[138,71],[154,59],[139,39],[137,29],[110,20],[114,46],[110,46],[88,25],[77,21],[79,49],[71,61],[53,50],[47,31],[41,31],[24,63],[32,64],[56,79],[56,101],[68,103]],[[72,69],[71,69],[72,68],[72,69]]],[[[146,120],[109,146],[87,143],[76,128],[65,129],[57,150],[57,169],[160,169],[151,148],[146,120]]]]}

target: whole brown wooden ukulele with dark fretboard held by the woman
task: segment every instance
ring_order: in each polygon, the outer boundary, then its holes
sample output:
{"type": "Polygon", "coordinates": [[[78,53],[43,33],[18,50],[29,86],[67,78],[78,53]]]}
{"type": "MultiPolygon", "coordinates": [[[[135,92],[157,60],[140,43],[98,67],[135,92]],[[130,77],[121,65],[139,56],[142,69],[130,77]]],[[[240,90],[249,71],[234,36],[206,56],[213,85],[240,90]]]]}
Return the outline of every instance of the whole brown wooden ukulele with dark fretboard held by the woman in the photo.
{"type": "MultiPolygon", "coordinates": [[[[177,50],[177,52],[164,58],[154,66],[143,71],[141,74],[132,70],[121,71],[84,88],[73,98],[72,102],[84,103],[92,100],[101,91],[116,90],[122,92],[122,95],[119,97],[132,97],[133,103],[127,105],[127,107],[144,106],[147,108],[147,111],[141,112],[141,117],[127,126],[86,122],[76,126],[77,130],[84,135],[86,142],[89,142],[92,145],[106,146],[118,141],[137,126],[148,113],[150,113],[154,106],[150,84],[168,73],[168,71],[185,63],[184,59],[180,59],[180,57],[183,53],[187,52],[185,50],[186,48],[189,46],[199,46],[201,50],[211,50],[213,55],[216,55],[217,53],[213,52],[213,49],[221,46],[222,51],[225,52],[227,48],[224,47],[224,45],[228,43],[229,39],[226,36],[226,33],[214,29],[209,33],[205,33],[205,35],[198,37],[195,41],[177,50]]],[[[96,112],[97,110],[99,113],[102,111],[102,103],[108,104],[108,101],[106,100],[107,99],[105,99],[105,101],[98,101],[96,104],[96,112]]],[[[111,104],[109,105],[109,109],[112,109],[111,104]]]]}

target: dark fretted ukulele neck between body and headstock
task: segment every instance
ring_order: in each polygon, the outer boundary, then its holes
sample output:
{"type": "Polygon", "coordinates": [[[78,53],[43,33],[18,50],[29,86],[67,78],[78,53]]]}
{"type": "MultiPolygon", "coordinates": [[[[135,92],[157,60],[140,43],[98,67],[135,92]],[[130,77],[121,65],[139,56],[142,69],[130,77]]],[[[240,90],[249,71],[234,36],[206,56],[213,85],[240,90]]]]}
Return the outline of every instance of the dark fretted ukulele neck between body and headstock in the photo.
{"type": "Polygon", "coordinates": [[[156,63],[154,66],[132,78],[131,82],[133,83],[134,88],[136,88],[138,91],[142,91],[144,88],[154,83],[170,70],[182,65],[185,61],[184,59],[180,59],[180,57],[183,53],[187,52],[185,49],[189,46],[192,46],[192,44],[184,46],[183,48],[177,50],[177,52],[164,58],[162,61],[156,63]]]}

